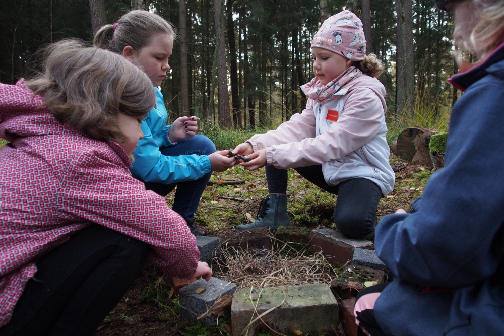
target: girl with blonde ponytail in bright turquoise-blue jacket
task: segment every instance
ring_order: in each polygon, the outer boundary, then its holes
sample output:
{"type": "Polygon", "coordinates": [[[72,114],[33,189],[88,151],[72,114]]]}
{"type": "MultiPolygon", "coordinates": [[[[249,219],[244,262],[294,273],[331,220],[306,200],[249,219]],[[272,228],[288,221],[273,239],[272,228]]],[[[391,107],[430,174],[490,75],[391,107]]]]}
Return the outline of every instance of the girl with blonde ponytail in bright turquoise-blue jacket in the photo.
{"type": "MultiPolygon", "coordinates": [[[[228,151],[216,152],[213,142],[196,135],[197,118],[180,117],[168,123],[161,82],[170,70],[168,60],[176,34],[172,25],[155,13],[136,10],[117,23],[101,27],[93,44],[122,54],[149,77],[156,93],[156,106],[141,122],[143,139],[133,154],[133,177],[148,190],[166,196],[177,187],[173,210],[182,216],[195,235],[206,234],[194,225],[194,214],[212,171],[224,171],[236,164],[228,151]]],[[[182,92],[181,94],[187,94],[182,92]]],[[[119,106],[128,108],[128,106],[119,106]]]]}

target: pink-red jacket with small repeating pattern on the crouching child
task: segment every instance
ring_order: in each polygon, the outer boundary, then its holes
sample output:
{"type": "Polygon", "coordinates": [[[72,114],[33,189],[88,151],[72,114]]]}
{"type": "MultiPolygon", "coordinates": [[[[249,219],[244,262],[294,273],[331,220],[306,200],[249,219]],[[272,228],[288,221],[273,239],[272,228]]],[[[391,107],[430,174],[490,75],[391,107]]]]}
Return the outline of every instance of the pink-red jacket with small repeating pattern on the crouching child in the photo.
{"type": "Polygon", "coordinates": [[[0,327],[41,255],[97,223],[152,246],[161,271],[196,272],[196,238],[163,197],[131,176],[116,143],[60,123],[24,80],[0,84],[0,327]]]}

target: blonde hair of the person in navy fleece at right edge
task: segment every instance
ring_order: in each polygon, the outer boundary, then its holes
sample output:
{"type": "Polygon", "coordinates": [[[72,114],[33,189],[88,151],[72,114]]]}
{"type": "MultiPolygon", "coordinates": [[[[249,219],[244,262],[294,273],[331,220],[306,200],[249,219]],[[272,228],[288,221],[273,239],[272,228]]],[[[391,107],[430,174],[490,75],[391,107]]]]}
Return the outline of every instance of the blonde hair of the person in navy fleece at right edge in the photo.
{"type": "MultiPolygon", "coordinates": [[[[476,57],[474,63],[463,59],[463,53],[456,51],[456,59],[461,70],[466,70],[485,59],[504,42],[504,2],[501,0],[469,0],[477,17],[476,26],[470,37],[461,41],[462,47],[476,57]]],[[[457,42],[456,42],[457,44],[457,42]]]]}

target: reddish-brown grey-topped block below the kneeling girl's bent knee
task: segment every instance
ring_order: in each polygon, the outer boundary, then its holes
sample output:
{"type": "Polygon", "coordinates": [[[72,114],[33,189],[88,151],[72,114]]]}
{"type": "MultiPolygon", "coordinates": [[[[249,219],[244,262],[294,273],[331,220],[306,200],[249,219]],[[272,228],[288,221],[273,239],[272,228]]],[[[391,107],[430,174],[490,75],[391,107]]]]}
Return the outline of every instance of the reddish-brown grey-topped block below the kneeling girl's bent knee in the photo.
{"type": "Polygon", "coordinates": [[[373,249],[369,240],[350,239],[331,229],[315,229],[311,231],[310,246],[316,251],[322,251],[325,257],[334,264],[344,264],[352,260],[356,248],[373,249]]]}

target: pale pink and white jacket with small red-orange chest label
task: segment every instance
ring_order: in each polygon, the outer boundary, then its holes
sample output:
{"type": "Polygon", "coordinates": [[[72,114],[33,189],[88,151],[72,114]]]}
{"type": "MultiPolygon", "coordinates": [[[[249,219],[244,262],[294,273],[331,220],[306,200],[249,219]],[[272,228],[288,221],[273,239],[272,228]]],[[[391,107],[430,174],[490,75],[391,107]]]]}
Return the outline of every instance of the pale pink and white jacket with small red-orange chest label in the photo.
{"type": "Polygon", "coordinates": [[[394,172],[385,138],[384,97],[382,83],[362,75],[322,104],[308,99],[301,114],[248,142],[254,152],[266,149],[267,165],[281,169],[322,165],[329,185],[363,177],[378,184],[385,196],[394,187],[394,172]],[[338,111],[337,121],[327,119],[329,110],[338,111]]]}

